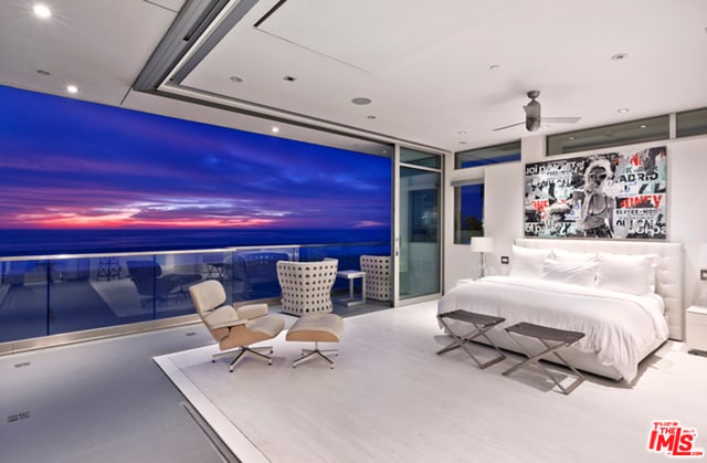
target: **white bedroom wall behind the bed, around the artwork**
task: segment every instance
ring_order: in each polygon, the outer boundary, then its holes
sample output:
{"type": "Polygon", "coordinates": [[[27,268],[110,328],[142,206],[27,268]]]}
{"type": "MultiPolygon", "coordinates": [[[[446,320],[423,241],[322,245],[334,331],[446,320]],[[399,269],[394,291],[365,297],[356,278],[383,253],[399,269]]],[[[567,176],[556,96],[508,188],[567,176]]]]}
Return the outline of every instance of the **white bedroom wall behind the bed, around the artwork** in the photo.
{"type": "MultiPolygon", "coordinates": [[[[618,148],[602,148],[587,152],[574,152],[566,157],[652,146],[667,147],[668,156],[668,231],[667,239],[679,242],[685,250],[685,304],[707,304],[707,282],[699,281],[697,255],[699,244],[707,243],[707,137],[693,137],[669,141],[653,141],[618,148]]],[[[545,137],[532,136],[521,140],[521,162],[508,162],[477,169],[465,169],[451,173],[446,182],[446,198],[454,198],[451,180],[461,178],[485,179],[484,229],[494,236],[496,252],[487,255],[489,266],[496,273],[506,273],[500,265],[502,255],[510,255],[514,238],[523,236],[524,165],[542,160],[545,137]]],[[[454,165],[447,166],[452,172],[454,165]]],[[[450,201],[447,201],[450,202],[450,201]]],[[[454,208],[446,206],[445,227],[445,291],[456,280],[474,275],[477,256],[468,252],[468,245],[453,244],[454,208]]]]}

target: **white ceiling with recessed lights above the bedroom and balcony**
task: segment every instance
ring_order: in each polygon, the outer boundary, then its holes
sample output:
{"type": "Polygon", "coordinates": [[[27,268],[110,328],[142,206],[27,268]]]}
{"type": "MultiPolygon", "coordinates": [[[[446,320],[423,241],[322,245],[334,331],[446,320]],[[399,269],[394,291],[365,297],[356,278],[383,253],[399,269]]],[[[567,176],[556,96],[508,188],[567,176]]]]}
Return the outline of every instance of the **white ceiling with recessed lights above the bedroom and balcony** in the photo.
{"type": "Polygon", "coordinates": [[[223,107],[443,150],[527,136],[493,129],[524,120],[530,90],[544,116],[581,117],[544,135],[707,107],[705,0],[288,0],[255,27],[277,3],[257,0],[161,87],[211,106],[131,90],[182,0],[44,3],[51,20],[30,0],[3,1],[0,84],[67,96],[74,83],[76,98],[258,133],[273,123],[223,107]]]}

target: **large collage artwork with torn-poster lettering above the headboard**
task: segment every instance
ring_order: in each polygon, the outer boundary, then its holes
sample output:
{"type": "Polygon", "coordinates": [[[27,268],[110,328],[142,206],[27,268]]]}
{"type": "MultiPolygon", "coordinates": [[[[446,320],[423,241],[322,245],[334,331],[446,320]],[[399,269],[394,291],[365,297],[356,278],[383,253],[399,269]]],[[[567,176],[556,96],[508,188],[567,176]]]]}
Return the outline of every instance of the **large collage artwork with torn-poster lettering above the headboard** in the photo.
{"type": "Polygon", "coordinates": [[[525,235],[664,240],[665,147],[528,162],[525,235]]]}

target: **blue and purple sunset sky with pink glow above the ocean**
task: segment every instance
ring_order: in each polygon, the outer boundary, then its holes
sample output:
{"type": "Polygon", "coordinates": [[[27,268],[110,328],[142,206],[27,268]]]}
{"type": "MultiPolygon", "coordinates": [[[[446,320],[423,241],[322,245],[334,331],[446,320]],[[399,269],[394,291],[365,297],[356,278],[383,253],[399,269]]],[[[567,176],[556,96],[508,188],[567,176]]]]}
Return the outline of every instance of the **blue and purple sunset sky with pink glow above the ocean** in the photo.
{"type": "Polygon", "coordinates": [[[0,229],[390,227],[390,159],[0,86],[0,229]]]}

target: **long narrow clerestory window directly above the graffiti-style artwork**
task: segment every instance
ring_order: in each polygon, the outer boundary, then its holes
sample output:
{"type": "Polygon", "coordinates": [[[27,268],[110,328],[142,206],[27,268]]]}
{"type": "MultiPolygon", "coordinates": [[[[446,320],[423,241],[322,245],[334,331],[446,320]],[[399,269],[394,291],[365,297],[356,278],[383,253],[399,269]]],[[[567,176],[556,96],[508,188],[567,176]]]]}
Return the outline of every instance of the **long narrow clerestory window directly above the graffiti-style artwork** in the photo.
{"type": "Polygon", "coordinates": [[[641,141],[667,140],[669,134],[669,116],[650,117],[585,130],[549,135],[547,152],[548,156],[552,156],[641,141]]]}

